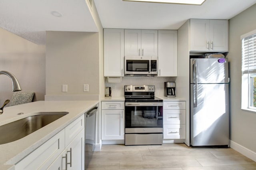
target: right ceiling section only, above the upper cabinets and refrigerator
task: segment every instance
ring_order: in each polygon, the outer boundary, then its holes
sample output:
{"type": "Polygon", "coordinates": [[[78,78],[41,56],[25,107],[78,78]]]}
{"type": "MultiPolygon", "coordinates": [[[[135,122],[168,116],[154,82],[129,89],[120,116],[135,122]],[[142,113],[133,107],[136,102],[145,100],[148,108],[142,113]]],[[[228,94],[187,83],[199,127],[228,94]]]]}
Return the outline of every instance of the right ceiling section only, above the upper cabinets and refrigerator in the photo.
{"type": "Polygon", "coordinates": [[[186,20],[230,19],[256,0],[206,0],[202,5],[94,0],[103,28],[178,30],[186,20]]]}

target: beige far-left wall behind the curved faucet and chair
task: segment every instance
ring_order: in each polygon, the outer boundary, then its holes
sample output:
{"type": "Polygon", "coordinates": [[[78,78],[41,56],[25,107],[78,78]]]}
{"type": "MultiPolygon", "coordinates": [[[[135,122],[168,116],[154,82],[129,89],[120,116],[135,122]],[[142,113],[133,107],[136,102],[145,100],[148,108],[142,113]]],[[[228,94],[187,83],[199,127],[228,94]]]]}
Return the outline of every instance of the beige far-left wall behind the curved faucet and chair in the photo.
{"type": "MultiPolygon", "coordinates": [[[[0,70],[13,73],[22,91],[34,91],[34,101],[45,95],[45,45],[37,45],[0,28],[0,70]]],[[[0,105],[12,97],[12,81],[0,75],[0,105]]]]}

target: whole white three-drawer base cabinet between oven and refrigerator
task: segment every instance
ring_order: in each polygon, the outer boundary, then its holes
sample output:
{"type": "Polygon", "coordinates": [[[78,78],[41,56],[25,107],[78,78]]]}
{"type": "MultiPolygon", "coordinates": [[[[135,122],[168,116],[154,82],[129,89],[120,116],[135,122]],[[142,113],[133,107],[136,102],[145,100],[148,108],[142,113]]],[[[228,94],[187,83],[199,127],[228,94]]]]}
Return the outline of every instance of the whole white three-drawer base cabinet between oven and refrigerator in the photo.
{"type": "Polygon", "coordinates": [[[163,107],[163,138],[186,138],[186,102],[164,101],[163,107]]]}

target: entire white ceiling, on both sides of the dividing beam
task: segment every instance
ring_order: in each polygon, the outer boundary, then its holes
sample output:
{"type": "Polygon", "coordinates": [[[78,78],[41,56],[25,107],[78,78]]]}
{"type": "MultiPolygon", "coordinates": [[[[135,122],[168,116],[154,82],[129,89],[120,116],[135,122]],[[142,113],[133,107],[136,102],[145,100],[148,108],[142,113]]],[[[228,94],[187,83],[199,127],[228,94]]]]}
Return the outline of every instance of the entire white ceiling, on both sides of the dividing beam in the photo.
{"type": "MultiPolygon", "coordinates": [[[[0,27],[37,44],[46,31],[98,32],[88,0],[0,0],[0,27]]],[[[256,0],[206,0],[201,6],[94,0],[103,28],[178,30],[189,18],[230,19],[256,0]]]]}

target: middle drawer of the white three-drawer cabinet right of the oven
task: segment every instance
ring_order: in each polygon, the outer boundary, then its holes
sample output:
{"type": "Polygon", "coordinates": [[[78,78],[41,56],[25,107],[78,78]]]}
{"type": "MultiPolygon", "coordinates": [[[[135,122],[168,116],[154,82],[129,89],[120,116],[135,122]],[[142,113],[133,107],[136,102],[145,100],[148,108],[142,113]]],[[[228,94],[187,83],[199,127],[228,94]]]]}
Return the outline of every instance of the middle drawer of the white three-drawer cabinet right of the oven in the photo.
{"type": "Polygon", "coordinates": [[[164,110],[164,124],[185,124],[186,110],[164,110]]]}

